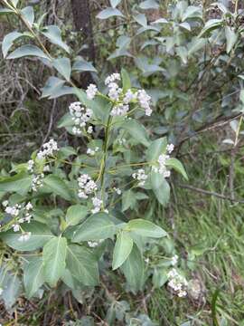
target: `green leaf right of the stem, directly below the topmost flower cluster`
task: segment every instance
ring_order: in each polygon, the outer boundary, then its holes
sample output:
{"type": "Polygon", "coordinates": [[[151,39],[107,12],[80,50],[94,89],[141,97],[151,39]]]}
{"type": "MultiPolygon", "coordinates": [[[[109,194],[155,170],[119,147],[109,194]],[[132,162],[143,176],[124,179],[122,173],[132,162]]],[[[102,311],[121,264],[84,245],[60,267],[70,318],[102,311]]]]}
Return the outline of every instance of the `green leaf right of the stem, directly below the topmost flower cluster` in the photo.
{"type": "Polygon", "coordinates": [[[126,129],[130,136],[136,139],[138,143],[143,144],[145,147],[150,145],[144,126],[136,120],[127,120],[121,127],[126,129]]]}

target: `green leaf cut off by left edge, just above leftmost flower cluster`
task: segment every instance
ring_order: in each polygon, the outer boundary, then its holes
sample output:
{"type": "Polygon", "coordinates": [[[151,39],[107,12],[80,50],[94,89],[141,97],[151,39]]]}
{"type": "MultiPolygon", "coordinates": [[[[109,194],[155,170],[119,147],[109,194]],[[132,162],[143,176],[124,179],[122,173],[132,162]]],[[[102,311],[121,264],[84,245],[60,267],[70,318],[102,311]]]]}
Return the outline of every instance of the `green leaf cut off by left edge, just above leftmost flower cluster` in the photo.
{"type": "Polygon", "coordinates": [[[26,195],[31,185],[32,177],[25,173],[16,174],[14,177],[0,177],[0,191],[26,195]]]}

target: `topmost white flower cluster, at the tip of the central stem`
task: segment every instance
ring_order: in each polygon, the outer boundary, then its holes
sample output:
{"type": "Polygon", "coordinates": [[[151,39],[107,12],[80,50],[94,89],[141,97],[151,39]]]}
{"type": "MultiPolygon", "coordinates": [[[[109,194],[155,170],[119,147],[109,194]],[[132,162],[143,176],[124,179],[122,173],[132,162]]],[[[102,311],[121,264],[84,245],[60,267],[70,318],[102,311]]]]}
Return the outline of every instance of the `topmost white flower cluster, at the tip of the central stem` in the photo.
{"type": "MultiPolygon", "coordinates": [[[[108,87],[108,98],[114,102],[113,108],[110,112],[111,116],[127,116],[130,110],[130,104],[135,103],[145,111],[146,116],[152,114],[150,108],[151,96],[145,90],[127,90],[126,92],[119,86],[121,81],[120,74],[115,72],[105,79],[105,85],[108,87]]],[[[90,84],[87,89],[87,97],[93,100],[98,93],[98,88],[94,84],[90,84]]]]}

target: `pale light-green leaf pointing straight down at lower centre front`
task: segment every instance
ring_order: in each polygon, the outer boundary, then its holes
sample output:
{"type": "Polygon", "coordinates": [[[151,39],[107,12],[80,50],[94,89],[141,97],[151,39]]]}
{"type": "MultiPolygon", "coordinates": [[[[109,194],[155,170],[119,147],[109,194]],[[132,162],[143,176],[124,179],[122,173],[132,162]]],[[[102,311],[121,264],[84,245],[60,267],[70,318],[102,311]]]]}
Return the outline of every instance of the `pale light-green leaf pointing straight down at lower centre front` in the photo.
{"type": "Polygon", "coordinates": [[[124,264],[133,247],[133,240],[127,232],[120,232],[113,253],[113,270],[124,264]]]}

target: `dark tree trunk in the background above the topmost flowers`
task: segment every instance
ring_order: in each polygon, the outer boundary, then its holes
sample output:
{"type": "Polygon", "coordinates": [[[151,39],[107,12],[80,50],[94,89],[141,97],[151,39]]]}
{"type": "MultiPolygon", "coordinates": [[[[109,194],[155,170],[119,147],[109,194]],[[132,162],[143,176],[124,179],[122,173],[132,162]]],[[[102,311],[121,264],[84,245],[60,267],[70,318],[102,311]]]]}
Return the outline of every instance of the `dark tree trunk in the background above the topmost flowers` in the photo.
{"type": "MultiPolygon", "coordinates": [[[[89,0],[71,0],[71,7],[75,29],[82,33],[84,43],[88,45],[87,49],[82,50],[79,54],[90,62],[95,63],[95,46],[92,35],[89,0]]],[[[80,77],[81,88],[87,88],[90,82],[92,82],[90,72],[82,72],[80,77]]]]}

